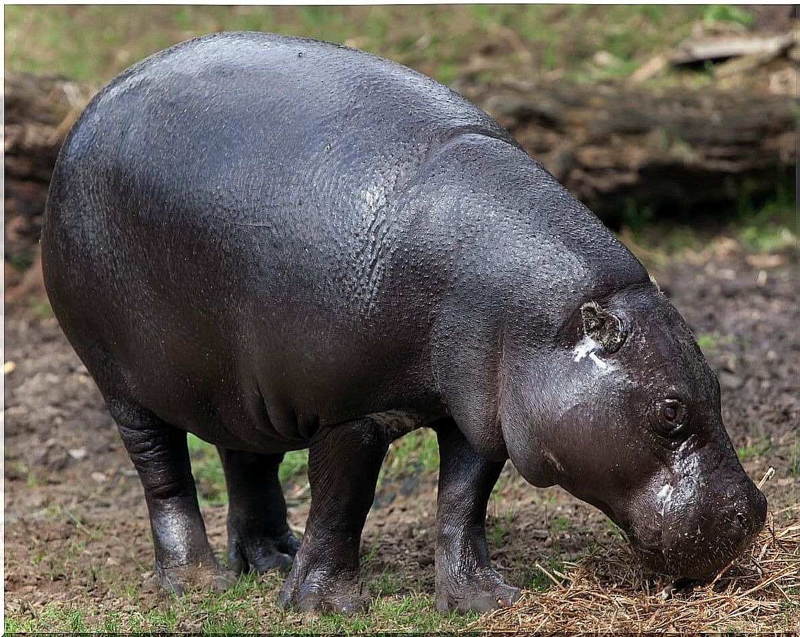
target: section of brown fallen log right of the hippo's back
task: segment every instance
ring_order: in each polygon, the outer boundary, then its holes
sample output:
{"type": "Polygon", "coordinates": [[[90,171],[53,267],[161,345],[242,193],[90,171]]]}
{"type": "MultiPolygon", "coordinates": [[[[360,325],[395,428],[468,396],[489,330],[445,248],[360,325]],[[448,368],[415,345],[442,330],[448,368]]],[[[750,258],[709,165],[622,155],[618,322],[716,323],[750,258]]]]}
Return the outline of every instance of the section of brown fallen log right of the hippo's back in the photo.
{"type": "Polygon", "coordinates": [[[459,88],[612,227],[637,210],[723,218],[742,197],[794,187],[791,96],[561,82],[459,88]]]}

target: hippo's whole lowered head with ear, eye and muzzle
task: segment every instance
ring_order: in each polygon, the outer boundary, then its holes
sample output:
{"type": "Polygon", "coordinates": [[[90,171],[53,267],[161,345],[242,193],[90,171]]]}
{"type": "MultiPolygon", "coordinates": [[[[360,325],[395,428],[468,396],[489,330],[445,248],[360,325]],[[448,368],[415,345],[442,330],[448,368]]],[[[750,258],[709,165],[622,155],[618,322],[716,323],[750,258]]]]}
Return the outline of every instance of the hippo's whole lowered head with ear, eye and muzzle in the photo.
{"type": "Polygon", "coordinates": [[[582,303],[548,355],[515,370],[522,391],[501,405],[530,483],[600,508],[651,571],[706,579],[750,545],[766,499],[722,425],[714,373],[655,286],[582,303]]]}

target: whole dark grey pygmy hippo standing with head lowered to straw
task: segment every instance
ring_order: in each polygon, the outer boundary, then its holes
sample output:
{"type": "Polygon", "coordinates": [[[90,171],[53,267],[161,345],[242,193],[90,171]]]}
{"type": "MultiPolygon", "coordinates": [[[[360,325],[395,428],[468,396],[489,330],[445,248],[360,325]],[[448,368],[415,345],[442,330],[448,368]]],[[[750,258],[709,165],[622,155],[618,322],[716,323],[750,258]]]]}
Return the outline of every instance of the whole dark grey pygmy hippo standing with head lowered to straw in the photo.
{"type": "Polygon", "coordinates": [[[488,611],[486,502],[510,458],[705,578],[766,502],[719,386],[646,270],[457,94],[356,50],[214,34],[147,58],[58,158],[46,286],[142,479],[156,572],[227,583],[186,431],[226,471],[228,563],[290,568],[282,604],[360,611],[362,526],[390,443],[441,454],[436,606],[488,611]],[[302,543],[278,464],[309,447],[302,543]]]}

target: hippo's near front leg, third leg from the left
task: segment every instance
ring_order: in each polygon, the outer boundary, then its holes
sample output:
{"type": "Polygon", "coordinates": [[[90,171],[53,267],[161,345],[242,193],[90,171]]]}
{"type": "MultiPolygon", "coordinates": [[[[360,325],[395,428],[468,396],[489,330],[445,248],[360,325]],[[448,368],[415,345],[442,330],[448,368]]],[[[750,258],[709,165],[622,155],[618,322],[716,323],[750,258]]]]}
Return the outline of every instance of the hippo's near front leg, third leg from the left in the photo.
{"type": "Polygon", "coordinates": [[[278,600],[300,611],[366,611],[358,549],[390,439],[362,419],[325,427],[310,441],[311,509],[300,550],[278,600]]]}

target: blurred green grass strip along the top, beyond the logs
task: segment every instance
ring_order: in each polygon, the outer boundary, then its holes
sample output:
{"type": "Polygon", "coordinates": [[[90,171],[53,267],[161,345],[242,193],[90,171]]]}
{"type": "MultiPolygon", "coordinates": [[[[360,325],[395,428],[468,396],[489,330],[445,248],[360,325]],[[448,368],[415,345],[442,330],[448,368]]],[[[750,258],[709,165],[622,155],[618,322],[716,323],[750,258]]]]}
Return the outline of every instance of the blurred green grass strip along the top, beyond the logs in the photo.
{"type": "Polygon", "coordinates": [[[198,34],[262,30],[342,42],[452,82],[475,56],[519,74],[625,76],[694,22],[752,24],[735,6],[6,6],[6,69],[102,84],[198,34]],[[617,61],[594,68],[594,54],[617,61]],[[594,75],[593,75],[594,73],[594,75]]]}

